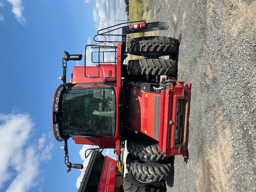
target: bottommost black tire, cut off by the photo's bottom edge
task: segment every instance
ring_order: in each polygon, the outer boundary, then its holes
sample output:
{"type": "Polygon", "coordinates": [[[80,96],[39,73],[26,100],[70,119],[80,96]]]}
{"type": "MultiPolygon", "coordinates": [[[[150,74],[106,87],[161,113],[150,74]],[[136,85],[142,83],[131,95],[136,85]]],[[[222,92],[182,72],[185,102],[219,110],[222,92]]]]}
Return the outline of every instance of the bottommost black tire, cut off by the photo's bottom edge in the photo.
{"type": "Polygon", "coordinates": [[[144,184],[138,182],[130,173],[124,177],[124,192],[165,192],[165,182],[144,184]]]}

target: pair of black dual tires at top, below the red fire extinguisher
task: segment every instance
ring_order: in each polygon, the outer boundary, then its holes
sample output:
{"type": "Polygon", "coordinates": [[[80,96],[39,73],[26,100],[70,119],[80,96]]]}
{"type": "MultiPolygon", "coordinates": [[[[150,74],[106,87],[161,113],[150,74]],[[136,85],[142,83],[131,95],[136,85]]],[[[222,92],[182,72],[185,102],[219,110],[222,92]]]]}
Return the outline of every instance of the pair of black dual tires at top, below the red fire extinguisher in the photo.
{"type": "Polygon", "coordinates": [[[148,36],[131,39],[128,53],[145,56],[145,59],[129,60],[127,64],[130,75],[175,75],[177,64],[172,59],[159,59],[164,55],[173,55],[178,51],[178,40],[170,37],[148,36]]]}

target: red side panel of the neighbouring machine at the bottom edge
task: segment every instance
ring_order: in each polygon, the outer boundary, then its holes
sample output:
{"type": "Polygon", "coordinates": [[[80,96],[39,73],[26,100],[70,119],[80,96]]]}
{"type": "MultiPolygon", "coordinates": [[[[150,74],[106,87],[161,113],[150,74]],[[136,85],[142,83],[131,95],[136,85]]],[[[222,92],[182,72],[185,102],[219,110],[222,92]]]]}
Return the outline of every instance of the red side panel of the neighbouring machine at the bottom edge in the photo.
{"type": "Polygon", "coordinates": [[[98,192],[114,192],[117,161],[105,157],[98,192]]]}

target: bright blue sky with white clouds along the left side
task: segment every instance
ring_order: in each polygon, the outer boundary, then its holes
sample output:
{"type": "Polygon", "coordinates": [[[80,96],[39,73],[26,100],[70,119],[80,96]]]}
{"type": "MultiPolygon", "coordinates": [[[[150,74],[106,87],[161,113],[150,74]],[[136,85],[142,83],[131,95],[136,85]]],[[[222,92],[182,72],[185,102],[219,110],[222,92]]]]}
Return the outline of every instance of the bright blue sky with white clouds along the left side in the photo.
{"type": "MultiPolygon", "coordinates": [[[[0,0],[0,192],[77,191],[81,171],[66,172],[64,143],[52,132],[62,57],[64,50],[83,54],[99,28],[125,20],[124,6],[124,0],[0,0]]],[[[82,64],[68,62],[68,74],[82,64]]],[[[86,165],[88,146],[68,145],[70,162],[86,165]]]]}

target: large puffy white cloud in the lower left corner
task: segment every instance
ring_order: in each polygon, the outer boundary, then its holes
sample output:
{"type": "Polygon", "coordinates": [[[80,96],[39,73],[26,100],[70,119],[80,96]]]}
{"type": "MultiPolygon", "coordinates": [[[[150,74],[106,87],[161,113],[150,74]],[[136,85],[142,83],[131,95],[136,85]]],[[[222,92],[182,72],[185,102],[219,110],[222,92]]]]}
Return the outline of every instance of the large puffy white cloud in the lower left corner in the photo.
{"type": "Polygon", "coordinates": [[[0,114],[0,190],[25,192],[36,186],[40,163],[49,160],[52,141],[46,134],[32,139],[34,122],[29,114],[0,114]],[[45,144],[48,144],[45,146],[45,144]],[[36,146],[38,144],[38,147],[36,146]],[[41,156],[45,155],[43,159],[41,156]]]}

